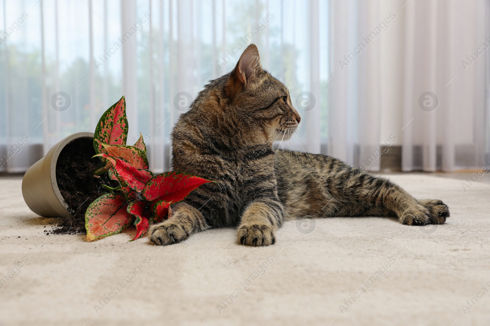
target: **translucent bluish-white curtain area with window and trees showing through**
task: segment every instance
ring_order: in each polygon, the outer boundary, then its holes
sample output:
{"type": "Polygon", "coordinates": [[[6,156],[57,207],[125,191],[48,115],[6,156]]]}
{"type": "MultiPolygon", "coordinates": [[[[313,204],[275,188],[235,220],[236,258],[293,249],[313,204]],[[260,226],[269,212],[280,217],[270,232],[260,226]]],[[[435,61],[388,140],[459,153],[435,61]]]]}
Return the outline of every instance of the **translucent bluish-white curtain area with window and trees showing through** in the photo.
{"type": "Polygon", "coordinates": [[[122,95],[128,143],[141,131],[150,168],[169,170],[172,125],[208,80],[234,67],[248,43],[291,87],[293,102],[299,96],[306,103],[298,135],[278,146],[320,152],[325,144],[324,1],[0,1],[0,172],[25,171],[68,134],[94,131],[122,95]],[[23,13],[27,18],[16,23],[23,13]],[[58,92],[69,105],[52,105],[58,92]],[[28,140],[16,145],[23,135],[28,140]]]}

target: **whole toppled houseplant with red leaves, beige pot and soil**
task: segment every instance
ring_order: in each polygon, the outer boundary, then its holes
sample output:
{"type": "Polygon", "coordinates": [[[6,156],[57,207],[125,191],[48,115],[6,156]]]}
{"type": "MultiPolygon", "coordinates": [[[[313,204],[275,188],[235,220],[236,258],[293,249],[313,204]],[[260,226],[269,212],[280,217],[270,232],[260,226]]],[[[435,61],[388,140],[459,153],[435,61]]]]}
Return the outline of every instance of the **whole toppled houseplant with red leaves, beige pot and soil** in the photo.
{"type": "Polygon", "coordinates": [[[138,239],[151,224],[171,217],[171,204],[211,182],[176,171],[153,175],[143,136],[126,146],[127,130],[123,96],[101,116],[95,134],[69,135],[27,170],[25,202],[40,216],[61,218],[55,233],[87,232],[93,240],[135,224],[138,239]]]}

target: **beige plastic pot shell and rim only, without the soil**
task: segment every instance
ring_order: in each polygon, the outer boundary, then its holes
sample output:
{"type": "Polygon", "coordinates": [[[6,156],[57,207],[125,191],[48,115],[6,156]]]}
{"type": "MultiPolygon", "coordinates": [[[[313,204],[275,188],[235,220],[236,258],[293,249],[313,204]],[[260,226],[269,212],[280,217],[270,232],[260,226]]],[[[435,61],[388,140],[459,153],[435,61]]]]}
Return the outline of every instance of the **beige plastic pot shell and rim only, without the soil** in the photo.
{"type": "Polygon", "coordinates": [[[43,217],[73,217],[61,196],[56,182],[56,162],[60,152],[77,138],[94,139],[92,132],[75,132],[51,147],[45,157],[34,163],[24,174],[22,196],[36,214],[43,217]]]}

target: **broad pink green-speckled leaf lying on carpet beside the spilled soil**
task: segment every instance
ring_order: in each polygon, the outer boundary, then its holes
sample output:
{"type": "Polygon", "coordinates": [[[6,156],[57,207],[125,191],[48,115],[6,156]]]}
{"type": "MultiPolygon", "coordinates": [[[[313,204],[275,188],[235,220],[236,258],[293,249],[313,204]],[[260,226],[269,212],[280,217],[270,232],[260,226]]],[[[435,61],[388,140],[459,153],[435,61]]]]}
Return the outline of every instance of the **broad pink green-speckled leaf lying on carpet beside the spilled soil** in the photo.
{"type": "Polygon", "coordinates": [[[105,194],[94,200],[85,212],[87,241],[120,233],[133,220],[127,202],[120,194],[105,194]]]}

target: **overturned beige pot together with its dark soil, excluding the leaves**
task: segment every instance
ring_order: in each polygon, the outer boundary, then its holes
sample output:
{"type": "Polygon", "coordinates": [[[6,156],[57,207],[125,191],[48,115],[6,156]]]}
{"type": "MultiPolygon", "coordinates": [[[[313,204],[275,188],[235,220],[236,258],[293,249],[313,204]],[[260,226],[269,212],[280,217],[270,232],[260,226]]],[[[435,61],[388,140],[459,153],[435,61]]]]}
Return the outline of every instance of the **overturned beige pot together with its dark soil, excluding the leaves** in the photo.
{"type": "Polygon", "coordinates": [[[59,233],[84,233],[88,205],[104,193],[102,184],[110,183],[106,176],[94,176],[101,162],[92,158],[93,142],[91,132],[73,133],[54,145],[24,175],[25,203],[40,216],[62,217],[56,230],[59,233]]]}

